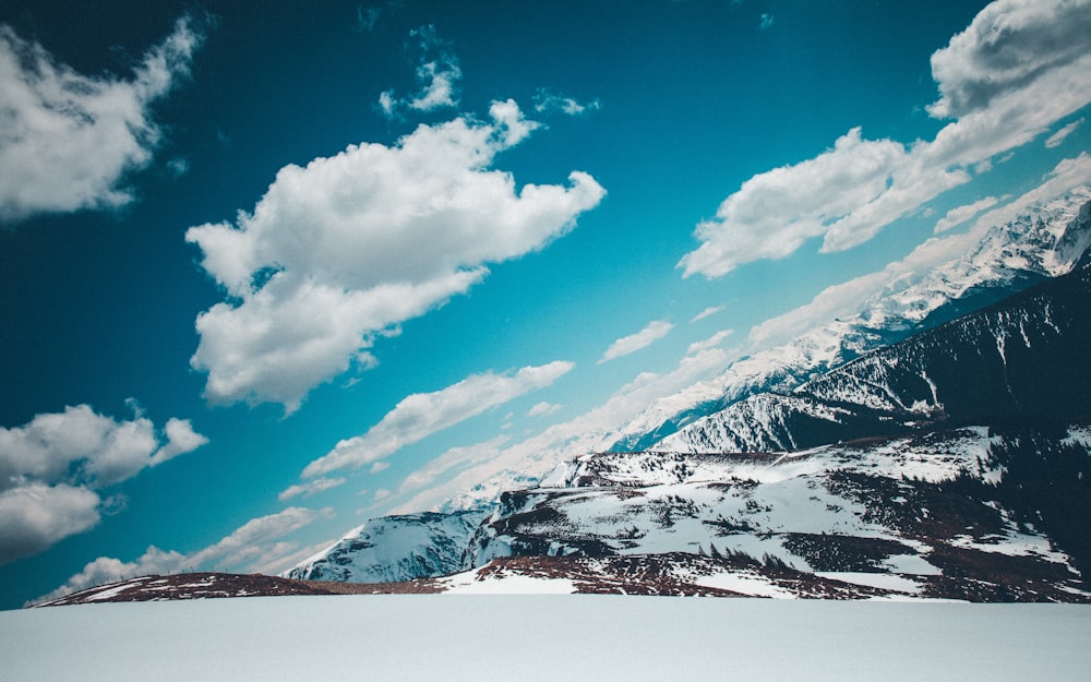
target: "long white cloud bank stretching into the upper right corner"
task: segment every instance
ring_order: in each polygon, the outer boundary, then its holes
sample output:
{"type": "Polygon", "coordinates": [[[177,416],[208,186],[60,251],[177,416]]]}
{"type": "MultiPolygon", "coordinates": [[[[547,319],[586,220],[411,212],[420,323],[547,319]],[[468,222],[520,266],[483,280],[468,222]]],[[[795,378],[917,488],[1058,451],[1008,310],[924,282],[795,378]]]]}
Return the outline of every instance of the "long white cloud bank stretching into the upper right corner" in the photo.
{"type": "Polygon", "coordinates": [[[719,277],[816,237],[823,252],[851,249],[1087,106],[1089,8],[1091,0],[988,5],[933,56],[940,98],[928,111],[957,120],[910,145],[854,128],[813,159],[751,178],[697,225],[700,246],[679,263],[684,276],[719,277]]]}

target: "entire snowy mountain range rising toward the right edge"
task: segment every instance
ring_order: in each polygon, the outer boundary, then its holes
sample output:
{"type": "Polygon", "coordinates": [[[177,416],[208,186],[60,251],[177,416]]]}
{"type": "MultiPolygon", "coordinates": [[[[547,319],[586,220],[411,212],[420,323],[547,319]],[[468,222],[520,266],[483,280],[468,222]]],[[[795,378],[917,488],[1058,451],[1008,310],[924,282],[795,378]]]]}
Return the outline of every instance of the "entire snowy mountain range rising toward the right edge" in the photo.
{"type": "Polygon", "coordinates": [[[1091,188],[1028,205],[856,314],[520,472],[536,486],[371,519],[285,575],[1089,600],[1089,244],[1091,188]]]}

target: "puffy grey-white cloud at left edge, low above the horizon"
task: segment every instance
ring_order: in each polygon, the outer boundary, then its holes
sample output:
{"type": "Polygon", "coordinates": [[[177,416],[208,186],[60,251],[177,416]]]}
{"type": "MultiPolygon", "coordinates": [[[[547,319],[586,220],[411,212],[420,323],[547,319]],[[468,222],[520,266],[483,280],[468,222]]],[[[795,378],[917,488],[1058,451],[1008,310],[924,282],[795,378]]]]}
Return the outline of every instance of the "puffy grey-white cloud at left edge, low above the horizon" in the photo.
{"type": "Polygon", "coordinates": [[[163,435],[140,414],[117,421],[87,405],[0,427],[0,564],[92,528],[109,506],[97,490],[208,442],[182,419],[163,435]]]}

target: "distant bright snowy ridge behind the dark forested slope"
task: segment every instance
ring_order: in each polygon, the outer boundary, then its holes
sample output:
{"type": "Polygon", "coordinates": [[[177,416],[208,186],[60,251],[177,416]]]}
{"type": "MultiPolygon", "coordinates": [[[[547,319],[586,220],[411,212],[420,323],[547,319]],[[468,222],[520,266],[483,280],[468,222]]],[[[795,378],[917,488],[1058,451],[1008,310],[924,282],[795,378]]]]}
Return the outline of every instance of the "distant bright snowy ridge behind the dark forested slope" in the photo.
{"type": "Polygon", "coordinates": [[[868,298],[858,314],[736,360],[714,381],[657,402],[622,429],[610,450],[658,448],[663,439],[734,403],[790,393],[865,352],[1068,273],[1089,246],[1091,187],[1028,206],[1012,220],[991,227],[962,256],[898,278],[868,298]]]}

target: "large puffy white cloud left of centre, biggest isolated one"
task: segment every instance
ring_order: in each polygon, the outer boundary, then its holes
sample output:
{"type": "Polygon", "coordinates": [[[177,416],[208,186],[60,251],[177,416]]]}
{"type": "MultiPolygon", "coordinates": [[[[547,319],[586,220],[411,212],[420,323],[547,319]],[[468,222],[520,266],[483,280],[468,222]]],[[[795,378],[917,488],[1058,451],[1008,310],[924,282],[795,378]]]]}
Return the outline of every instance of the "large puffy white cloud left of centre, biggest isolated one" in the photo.
{"type": "Polygon", "coordinates": [[[227,294],[196,320],[191,364],[208,373],[209,402],[295,410],[316,384],[373,364],[377,336],[466,292],[487,264],[542,249],[599,203],[606,191],[586,172],[568,187],[517,188],[490,169],[536,125],[512,100],[490,116],[287,166],[252,213],[188,230],[227,294]]]}

